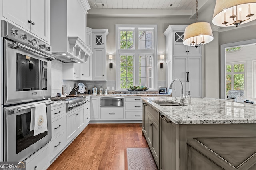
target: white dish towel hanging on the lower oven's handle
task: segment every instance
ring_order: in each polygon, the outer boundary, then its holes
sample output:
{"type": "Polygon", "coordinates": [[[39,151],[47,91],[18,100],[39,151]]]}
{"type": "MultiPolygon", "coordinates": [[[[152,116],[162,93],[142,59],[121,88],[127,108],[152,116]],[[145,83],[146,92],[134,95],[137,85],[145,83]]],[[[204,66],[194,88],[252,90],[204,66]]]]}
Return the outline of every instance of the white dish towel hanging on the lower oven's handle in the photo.
{"type": "Polygon", "coordinates": [[[34,136],[47,131],[47,113],[45,103],[35,104],[31,109],[30,131],[34,129],[34,136]]]}

